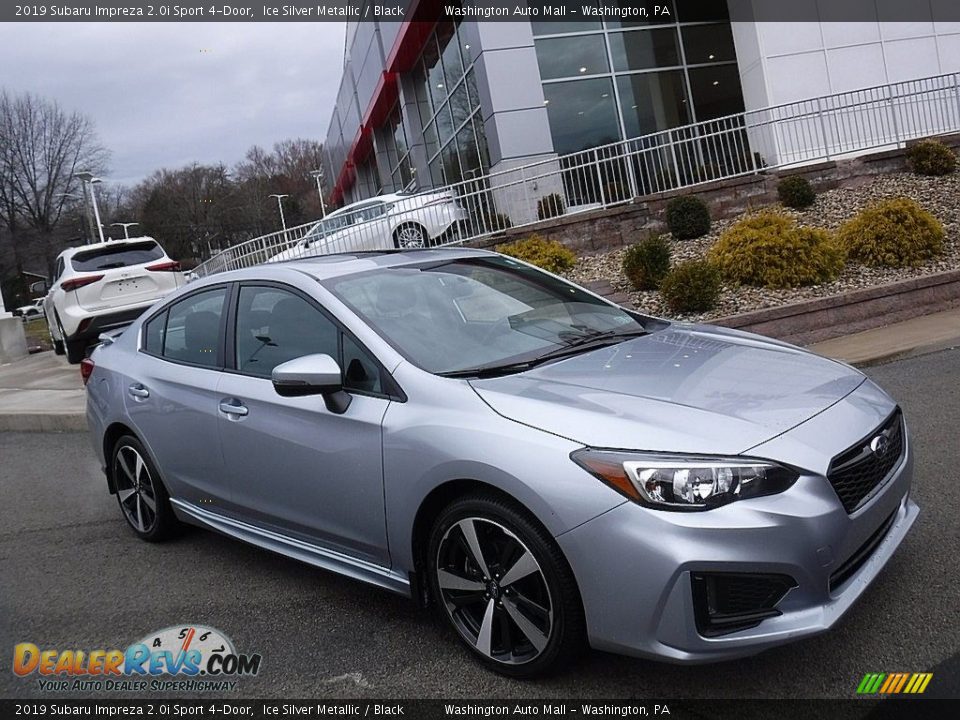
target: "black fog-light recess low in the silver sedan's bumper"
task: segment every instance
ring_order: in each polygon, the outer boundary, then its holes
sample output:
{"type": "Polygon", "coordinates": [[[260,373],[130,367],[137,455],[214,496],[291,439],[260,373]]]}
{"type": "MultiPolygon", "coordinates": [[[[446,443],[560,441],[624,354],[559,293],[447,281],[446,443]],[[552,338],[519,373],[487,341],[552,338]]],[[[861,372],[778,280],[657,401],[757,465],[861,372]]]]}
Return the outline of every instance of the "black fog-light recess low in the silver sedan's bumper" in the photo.
{"type": "Polygon", "coordinates": [[[693,609],[697,631],[715,637],[756,627],[780,615],[776,609],[796,581],[789,575],[693,573],[693,609]]]}

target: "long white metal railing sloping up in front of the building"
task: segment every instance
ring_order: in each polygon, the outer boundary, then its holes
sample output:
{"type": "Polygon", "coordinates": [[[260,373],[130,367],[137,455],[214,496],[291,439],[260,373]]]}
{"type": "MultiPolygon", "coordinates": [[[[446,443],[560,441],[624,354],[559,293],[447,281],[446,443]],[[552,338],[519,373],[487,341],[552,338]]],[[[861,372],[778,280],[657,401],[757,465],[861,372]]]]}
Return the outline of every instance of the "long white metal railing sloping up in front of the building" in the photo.
{"type": "MultiPolygon", "coordinates": [[[[426,202],[436,198],[439,191],[433,189],[420,194],[425,200],[417,210],[420,219],[411,218],[408,209],[393,211],[387,205],[375,220],[361,215],[360,222],[346,228],[341,222],[336,231],[321,233],[325,244],[301,252],[297,243],[316,226],[307,223],[228,248],[194,272],[248,267],[287,250],[288,255],[306,255],[321,247],[343,252],[399,246],[403,228],[418,224],[434,231],[431,246],[464,243],[768,168],[902,147],[908,140],[960,131],[958,79],[960,73],[951,73],[825,95],[519,165],[443,189],[455,196],[465,215],[452,226],[445,225],[449,208],[426,202]]],[[[403,205],[409,207],[409,202],[403,205]]]]}

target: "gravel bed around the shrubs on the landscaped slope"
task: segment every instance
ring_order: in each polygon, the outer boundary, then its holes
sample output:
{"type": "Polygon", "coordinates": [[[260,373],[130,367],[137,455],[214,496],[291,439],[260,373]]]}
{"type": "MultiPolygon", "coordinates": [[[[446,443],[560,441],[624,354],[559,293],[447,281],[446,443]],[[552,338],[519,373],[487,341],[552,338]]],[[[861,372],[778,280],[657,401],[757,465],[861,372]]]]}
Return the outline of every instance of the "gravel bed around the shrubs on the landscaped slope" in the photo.
{"type": "MultiPolygon", "coordinates": [[[[801,225],[836,230],[867,205],[897,196],[913,198],[943,223],[946,238],[941,257],[916,268],[867,268],[848,265],[833,282],[787,290],[728,285],[723,288],[720,302],[712,311],[679,317],[694,321],[711,320],[960,268],[960,173],[945,177],[923,177],[909,173],[878,175],[866,178],[856,187],[838,188],[819,194],[816,203],[806,210],[784,211],[797,218],[801,225]]],[[[720,234],[737,219],[739,218],[716,221],[710,233],[697,240],[677,241],[671,238],[673,263],[703,258],[720,234]]],[[[676,313],[667,309],[659,293],[637,292],[630,287],[620,269],[624,251],[621,248],[580,257],[576,266],[564,274],[578,283],[606,280],[618,291],[627,293],[641,312],[677,317],[676,313]]]]}

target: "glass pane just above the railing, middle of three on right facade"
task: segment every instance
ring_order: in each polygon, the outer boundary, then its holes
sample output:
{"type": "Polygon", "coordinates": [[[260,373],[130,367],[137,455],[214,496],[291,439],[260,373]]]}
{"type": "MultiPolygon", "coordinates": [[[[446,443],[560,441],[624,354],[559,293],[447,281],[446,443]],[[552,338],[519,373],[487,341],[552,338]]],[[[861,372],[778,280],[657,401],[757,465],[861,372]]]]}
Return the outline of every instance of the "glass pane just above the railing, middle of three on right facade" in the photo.
{"type": "Polygon", "coordinates": [[[686,125],[690,108],[682,70],[668,70],[617,78],[627,137],[686,125]]]}

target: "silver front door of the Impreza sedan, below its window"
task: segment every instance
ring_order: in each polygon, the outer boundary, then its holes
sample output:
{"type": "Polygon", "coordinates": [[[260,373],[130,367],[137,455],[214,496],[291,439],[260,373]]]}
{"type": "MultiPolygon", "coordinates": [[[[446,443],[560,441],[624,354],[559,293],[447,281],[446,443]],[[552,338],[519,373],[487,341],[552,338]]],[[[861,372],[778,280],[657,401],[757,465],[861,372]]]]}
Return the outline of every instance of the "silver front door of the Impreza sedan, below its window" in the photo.
{"type": "Polygon", "coordinates": [[[284,398],[265,378],[224,375],[220,437],[233,511],[260,525],[388,564],[381,422],[389,401],[355,396],[343,415],[319,396],[284,398]]]}

